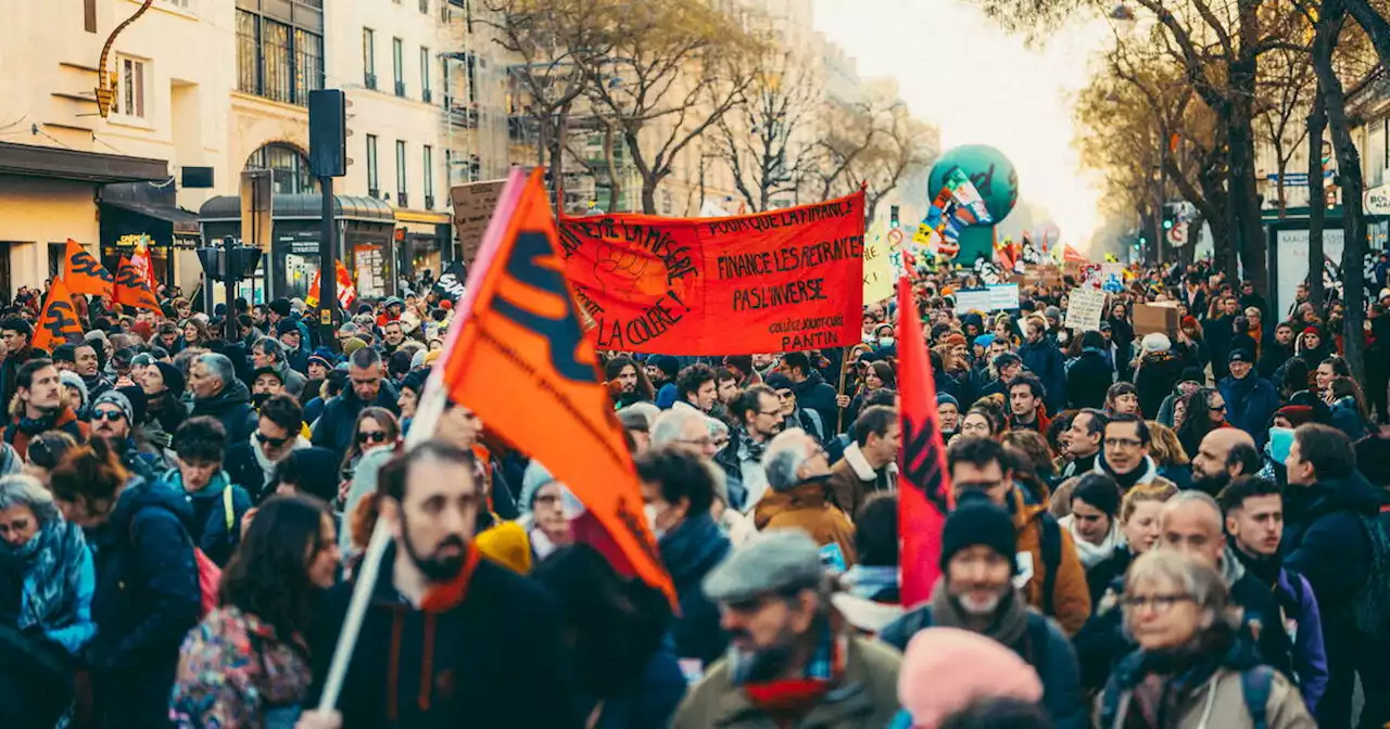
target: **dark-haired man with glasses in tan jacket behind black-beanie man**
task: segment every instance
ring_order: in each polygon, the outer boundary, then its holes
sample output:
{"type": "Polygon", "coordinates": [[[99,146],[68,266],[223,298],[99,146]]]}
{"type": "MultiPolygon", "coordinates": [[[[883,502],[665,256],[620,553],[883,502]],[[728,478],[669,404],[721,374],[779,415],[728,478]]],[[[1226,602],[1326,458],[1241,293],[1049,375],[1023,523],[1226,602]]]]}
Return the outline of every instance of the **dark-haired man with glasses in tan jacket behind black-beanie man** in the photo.
{"type": "MultiPolygon", "coordinates": [[[[1009,512],[1017,540],[1016,583],[1030,605],[1056,618],[1068,635],[1076,635],[1091,617],[1091,592],[1076,543],[1047,508],[1023,503],[1023,492],[1013,480],[1013,460],[1004,446],[987,437],[960,436],[947,449],[947,471],[958,500],[966,492],[983,492],[1009,512]]],[[[1070,504],[1070,494],[1052,498],[1070,504]]]]}

